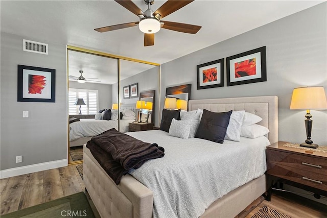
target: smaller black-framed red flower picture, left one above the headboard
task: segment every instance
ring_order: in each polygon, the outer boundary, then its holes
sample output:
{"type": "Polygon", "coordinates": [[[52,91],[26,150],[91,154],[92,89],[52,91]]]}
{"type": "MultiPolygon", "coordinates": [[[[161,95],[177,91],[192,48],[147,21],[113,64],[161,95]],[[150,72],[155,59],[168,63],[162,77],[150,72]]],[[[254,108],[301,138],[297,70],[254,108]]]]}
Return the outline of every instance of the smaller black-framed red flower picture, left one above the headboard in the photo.
{"type": "Polygon", "coordinates": [[[224,86],[224,59],[200,64],[197,68],[198,89],[224,86]]]}

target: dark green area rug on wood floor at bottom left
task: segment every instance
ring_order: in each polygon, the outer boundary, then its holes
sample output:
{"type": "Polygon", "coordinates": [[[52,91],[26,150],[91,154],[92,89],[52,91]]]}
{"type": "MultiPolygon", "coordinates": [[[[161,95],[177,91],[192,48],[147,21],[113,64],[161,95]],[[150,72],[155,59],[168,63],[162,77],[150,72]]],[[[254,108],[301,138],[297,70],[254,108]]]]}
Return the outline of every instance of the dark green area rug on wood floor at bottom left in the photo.
{"type": "Polygon", "coordinates": [[[84,192],[28,207],[1,216],[2,218],[62,218],[62,217],[95,217],[84,192]]]}

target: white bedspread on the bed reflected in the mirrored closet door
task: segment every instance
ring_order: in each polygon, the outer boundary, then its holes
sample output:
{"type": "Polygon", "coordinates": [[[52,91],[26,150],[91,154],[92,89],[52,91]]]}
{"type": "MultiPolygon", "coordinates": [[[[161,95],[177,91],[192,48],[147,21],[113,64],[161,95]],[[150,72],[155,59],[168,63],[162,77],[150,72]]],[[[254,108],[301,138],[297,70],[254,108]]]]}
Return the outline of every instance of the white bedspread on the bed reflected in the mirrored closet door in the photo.
{"type": "MultiPolygon", "coordinates": [[[[128,123],[134,119],[121,119],[121,132],[128,132],[128,123]]],[[[105,119],[80,119],[78,122],[69,124],[69,141],[82,137],[96,136],[109,129],[118,130],[118,120],[105,119]]]]}

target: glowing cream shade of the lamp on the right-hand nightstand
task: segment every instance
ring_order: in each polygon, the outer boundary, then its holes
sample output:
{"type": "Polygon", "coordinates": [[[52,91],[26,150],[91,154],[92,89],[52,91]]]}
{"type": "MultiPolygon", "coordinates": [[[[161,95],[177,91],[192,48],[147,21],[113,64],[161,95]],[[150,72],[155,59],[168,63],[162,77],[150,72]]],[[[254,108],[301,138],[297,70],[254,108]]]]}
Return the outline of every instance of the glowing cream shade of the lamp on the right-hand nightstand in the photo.
{"type": "Polygon", "coordinates": [[[323,87],[295,88],[292,94],[290,109],[327,109],[326,95],[323,87]]]}

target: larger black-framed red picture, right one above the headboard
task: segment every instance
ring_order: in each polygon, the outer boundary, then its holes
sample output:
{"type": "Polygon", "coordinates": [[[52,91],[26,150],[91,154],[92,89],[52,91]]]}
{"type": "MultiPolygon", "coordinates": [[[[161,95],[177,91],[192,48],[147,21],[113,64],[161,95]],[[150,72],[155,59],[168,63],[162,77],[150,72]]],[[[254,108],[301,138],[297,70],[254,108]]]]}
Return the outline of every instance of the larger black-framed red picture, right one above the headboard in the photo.
{"type": "Polygon", "coordinates": [[[227,86],[267,81],[266,46],[226,58],[227,86]]]}

